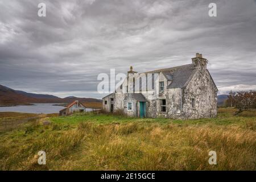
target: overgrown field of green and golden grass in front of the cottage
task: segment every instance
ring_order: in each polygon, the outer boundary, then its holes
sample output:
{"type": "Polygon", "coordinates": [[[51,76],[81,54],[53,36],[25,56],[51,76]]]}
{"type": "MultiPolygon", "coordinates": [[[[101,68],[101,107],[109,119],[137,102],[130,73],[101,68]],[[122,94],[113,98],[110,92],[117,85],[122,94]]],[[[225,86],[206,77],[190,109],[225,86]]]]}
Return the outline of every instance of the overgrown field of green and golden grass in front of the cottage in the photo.
{"type": "Polygon", "coordinates": [[[24,114],[36,118],[20,122],[22,114],[20,119],[2,113],[0,169],[255,170],[256,112],[233,116],[233,111],[219,109],[216,118],[187,121],[86,113],[24,114]],[[38,164],[40,150],[46,165],[38,164]],[[208,163],[211,150],[217,165],[208,163]]]}

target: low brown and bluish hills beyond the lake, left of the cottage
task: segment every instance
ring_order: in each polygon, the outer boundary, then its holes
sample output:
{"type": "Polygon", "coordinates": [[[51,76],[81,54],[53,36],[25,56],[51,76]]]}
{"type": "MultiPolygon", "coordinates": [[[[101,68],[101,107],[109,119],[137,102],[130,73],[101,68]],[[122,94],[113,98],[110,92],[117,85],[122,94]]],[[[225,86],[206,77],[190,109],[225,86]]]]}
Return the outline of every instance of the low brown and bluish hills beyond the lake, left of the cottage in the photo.
{"type": "Polygon", "coordinates": [[[27,93],[0,85],[0,105],[26,105],[32,103],[69,103],[74,100],[80,102],[102,102],[96,98],[66,97],[60,98],[48,94],[27,93]]]}

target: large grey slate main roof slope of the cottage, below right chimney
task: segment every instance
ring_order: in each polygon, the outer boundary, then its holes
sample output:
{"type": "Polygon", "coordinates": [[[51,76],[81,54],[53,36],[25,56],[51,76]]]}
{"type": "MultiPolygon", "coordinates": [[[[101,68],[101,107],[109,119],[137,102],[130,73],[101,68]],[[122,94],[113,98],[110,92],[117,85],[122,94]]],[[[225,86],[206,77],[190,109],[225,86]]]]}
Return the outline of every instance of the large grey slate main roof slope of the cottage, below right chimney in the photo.
{"type": "Polygon", "coordinates": [[[181,65],[179,67],[156,69],[154,71],[145,73],[160,73],[167,78],[167,80],[172,80],[171,84],[167,88],[183,88],[187,86],[188,82],[191,80],[193,73],[195,72],[194,64],[181,65]]]}

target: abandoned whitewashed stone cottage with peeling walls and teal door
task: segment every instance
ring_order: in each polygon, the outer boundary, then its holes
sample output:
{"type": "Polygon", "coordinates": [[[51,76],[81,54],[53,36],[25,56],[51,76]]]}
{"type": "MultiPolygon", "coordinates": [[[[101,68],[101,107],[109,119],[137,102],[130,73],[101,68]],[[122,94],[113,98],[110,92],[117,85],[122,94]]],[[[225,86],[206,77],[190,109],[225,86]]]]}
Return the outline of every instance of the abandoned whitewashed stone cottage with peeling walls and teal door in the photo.
{"type": "Polygon", "coordinates": [[[217,92],[199,53],[192,64],[137,73],[130,68],[115,93],[102,98],[103,109],[131,117],[177,119],[210,118],[217,115],[217,92]]]}

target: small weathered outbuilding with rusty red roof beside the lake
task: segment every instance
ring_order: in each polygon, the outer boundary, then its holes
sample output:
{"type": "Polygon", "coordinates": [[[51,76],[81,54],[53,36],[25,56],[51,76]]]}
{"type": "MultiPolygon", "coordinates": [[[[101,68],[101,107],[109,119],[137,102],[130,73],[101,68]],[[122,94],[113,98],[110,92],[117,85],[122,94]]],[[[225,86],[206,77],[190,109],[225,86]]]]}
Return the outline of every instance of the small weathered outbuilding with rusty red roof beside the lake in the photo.
{"type": "Polygon", "coordinates": [[[75,112],[84,113],[86,111],[86,107],[79,101],[73,101],[69,104],[65,109],[60,110],[59,115],[71,115],[75,112]]]}

